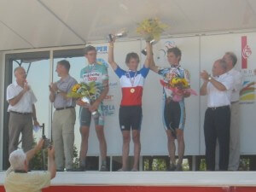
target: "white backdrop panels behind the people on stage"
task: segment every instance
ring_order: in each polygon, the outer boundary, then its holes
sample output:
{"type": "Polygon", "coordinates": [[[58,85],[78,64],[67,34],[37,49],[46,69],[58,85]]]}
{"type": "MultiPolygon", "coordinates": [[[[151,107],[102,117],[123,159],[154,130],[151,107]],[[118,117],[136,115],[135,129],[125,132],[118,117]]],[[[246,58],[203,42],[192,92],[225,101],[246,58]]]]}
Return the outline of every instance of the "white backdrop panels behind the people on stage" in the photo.
{"type": "MultiPolygon", "coordinates": [[[[221,58],[226,51],[233,51],[238,57],[236,67],[241,68],[241,36],[247,36],[247,44],[252,49],[252,54],[248,58],[248,68],[242,70],[245,78],[254,81],[256,51],[256,33],[236,33],[225,35],[213,35],[203,37],[186,38],[163,38],[154,45],[154,61],[160,67],[168,67],[166,60],[167,47],[177,46],[182,50],[181,65],[189,70],[191,75],[191,86],[199,93],[201,86],[200,72],[206,69],[211,73],[213,61],[221,58]]],[[[98,49],[98,59],[108,66],[108,44],[94,44],[98,49]],[[107,47],[106,47],[107,46],[107,47]]],[[[125,55],[134,51],[141,56],[141,65],[145,56],[140,54],[140,50],[145,44],[141,41],[118,42],[114,46],[114,58],[120,67],[125,66],[125,55]]],[[[121,90],[119,79],[113,73],[113,69],[108,67],[110,90],[106,106],[106,126],[105,134],[108,143],[108,155],[121,155],[122,136],[119,130],[119,102],[121,90]]],[[[253,90],[254,96],[254,90],[253,90]]],[[[206,96],[191,96],[185,100],[186,103],[186,124],[184,129],[185,154],[198,155],[205,153],[203,137],[203,121],[206,110],[206,96]]],[[[166,133],[161,120],[161,100],[162,88],[160,86],[160,76],[149,72],[143,91],[143,125],[141,131],[142,155],[164,155],[167,154],[166,133]]],[[[255,154],[254,136],[254,100],[242,101],[241,104],[241,154],[255,154]]],[[[91,127],[92,128],[92,127],[91,127]]],[[[94,129],[90,129],[89,155],[99,154],[98,142],[94,129]]],[[[131,141],[131,154],[133,154],[133,144],[131,141]]]]}

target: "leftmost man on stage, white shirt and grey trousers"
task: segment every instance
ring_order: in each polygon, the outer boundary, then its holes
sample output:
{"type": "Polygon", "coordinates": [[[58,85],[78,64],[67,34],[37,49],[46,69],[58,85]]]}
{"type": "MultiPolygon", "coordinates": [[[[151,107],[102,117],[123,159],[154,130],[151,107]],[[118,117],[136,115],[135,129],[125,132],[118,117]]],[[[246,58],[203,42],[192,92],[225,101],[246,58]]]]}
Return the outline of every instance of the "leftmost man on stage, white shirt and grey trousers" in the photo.
{"type": "Polygon", "coordinates": [[[15,68],[15,82],[7,87],[6,100],[9,102],[9,154],[18,148],[20,133],[22,148],[25,152],[32,148],[32,119],[39,125],[34,103],[37,98],[26,83],[26,71],[15,68]]]}

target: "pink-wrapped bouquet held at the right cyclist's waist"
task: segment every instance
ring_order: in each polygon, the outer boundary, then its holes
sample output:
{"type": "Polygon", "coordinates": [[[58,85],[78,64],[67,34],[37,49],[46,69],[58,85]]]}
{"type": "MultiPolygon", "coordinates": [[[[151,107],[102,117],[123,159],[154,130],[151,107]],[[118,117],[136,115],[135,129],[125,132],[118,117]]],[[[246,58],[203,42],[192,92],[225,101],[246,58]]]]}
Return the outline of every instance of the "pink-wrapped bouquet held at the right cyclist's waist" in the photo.
{"type": "Polygon", "coordinates": [[[174,102],[180,102],[183,97],[189,97],[190,95],[197,96],[195,90],[190,89],[189,82],[183,78],[172,78],[168,83],[160,80],[160,84],[166,89],[172,90],[172,101],[174,102]]]}

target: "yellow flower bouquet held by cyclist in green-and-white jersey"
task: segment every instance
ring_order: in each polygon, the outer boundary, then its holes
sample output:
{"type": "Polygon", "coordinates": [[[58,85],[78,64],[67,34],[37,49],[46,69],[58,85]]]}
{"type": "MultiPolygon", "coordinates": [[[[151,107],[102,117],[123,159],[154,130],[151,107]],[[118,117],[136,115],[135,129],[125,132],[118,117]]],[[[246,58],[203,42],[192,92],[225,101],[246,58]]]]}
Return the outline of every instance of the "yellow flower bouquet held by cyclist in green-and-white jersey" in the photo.
{"type": "MultiPolygon", "coordinates": [[[[67,93],[67,97],[81,99],[82,102],[88,103],[88,106],[94,101],[96,98],[100,96],[101,90],[96,86],[95,82],[90,82],[89,84],[74,84],[72,90],[67,93]]],[[[94,111],[91,113],[94,118],[98,116],[98,112],[94,111]]]]}

